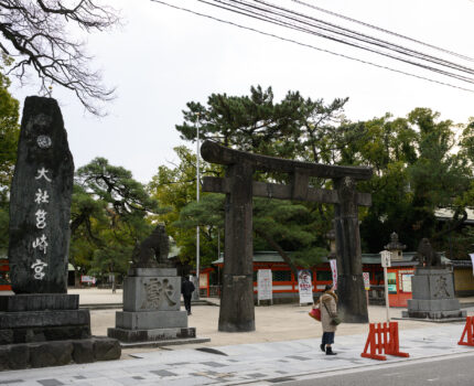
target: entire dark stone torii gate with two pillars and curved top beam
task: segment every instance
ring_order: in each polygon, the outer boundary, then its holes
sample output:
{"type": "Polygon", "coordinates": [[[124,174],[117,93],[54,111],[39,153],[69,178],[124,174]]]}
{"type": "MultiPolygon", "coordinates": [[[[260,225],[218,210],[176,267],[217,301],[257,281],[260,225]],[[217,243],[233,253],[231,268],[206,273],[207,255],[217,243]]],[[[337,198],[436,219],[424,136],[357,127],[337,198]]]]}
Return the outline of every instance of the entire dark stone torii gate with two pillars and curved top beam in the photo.
{"type": "Polygon", "coordinates": [[[205,141],[204,160],[227,167],[224,179],[206,176],[203,191],[225,193],[224,278],[218,330],[255,330],[252,196],[312,201],[335,205],[337,292],[344,322],[368,322],[360,260],[358,205],[369,206],[371,196],[355,190],[356,180],[369,180],[371,169],[333,167],[284,160],[222,147],[205,141]],[[283,172],[289,185],[252,181],[254,171],[283,172]],[[332,179],[334,190],[309,186],[310,176],[332,179]]]}

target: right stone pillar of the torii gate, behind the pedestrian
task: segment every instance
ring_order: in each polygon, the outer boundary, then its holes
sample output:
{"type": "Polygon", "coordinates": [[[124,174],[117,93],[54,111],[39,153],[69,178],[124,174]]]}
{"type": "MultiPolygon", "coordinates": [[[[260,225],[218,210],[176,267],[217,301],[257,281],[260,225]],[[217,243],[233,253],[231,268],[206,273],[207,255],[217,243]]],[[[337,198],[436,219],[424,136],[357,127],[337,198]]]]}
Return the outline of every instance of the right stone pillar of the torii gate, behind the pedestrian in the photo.
{"type": "Polygon", "coordinates": [[[334,180],[338,195],[335,205],[338,310],[346,323],[367,323],[367,300],[362,275],[360,234],[355,182],[334,180]]]}

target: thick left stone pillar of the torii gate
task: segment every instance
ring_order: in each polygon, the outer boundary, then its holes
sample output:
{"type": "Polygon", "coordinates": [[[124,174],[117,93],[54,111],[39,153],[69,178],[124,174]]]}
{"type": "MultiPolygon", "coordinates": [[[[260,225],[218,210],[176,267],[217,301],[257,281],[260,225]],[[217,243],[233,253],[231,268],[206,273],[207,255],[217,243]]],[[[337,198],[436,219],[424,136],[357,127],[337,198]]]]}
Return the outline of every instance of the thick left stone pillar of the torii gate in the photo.
{"type": "Polygon", "coordinates": [[[227,169],[223,296],[218,330],[255,331],[252,168],[247,162],[227,169]]]}

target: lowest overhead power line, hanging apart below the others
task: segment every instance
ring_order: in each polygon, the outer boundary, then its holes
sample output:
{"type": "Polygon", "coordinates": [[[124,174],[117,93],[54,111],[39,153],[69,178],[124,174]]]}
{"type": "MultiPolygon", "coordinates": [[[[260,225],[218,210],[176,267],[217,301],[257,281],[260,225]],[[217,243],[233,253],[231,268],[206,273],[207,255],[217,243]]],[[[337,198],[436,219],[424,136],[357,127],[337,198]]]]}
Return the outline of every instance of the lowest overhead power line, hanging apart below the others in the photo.
{"type": "Polygon", "coordinates": [[[328,53],[331,55],[335,55],[335,56],[344,57],[344,58],[347,58],[347,60],[351,60],[351,61],[355,61],[355,62],[359,62],[359,63],[363,63],[363,64],[367,64],[367,65],[370,65],[370,66],[374,66],[374,67],[377,67],[377,68],[383,68],[383,69],[387,69],[387,71],[390,71],[390,72],[394,72],[394,73],[398,73],[398,74],[407,75],[407,76],[410,76],[410,77],[414,77],[414,78],[418,78],[418,79],[423,79],[423,81],[428,81],[428,82],[435,83],[435,84],[439,84],[439,85],[443,85],[443,86],[448,86],[448,87],[452,87],[452,88],[456,88],[456,89],[462,89],[462,90],[468,92],[468,93],[474,93],[474,89],[471,89],[471,88],[466,88],[466,87],[453,85],[453,84],[450,84],[450,83],[446,83],[446,82],[442,82],[442,81],[429,78],[429,77],[422,76],[422,75],[412,74],[412,73],[409,73],[409,72],[406,72],[406,71],[402,71],[402,69],[397,69],[397,68],[392,68],[392,67],[389,67],[389,66],[376,64],[376,63],[370,62],[370,61],[360,60],[358,57],[354,57],[354,56],[341,54],[341,53],[337,53],[337,52],[334,52],[334,51],[331,51],[331,50],[321,49],[321,47],[317,47],[317,46],[312,45],[312,44],[302,43],[302,42],[299,42],[297,40],[283,37],[283,36],[280,36],[280,35],[273,34],[273,33],[269,33],[269,32],[263,32],[263,31],[257,30],[255,28],[241,25],[241,24],[238,24],[238,23],[233,22],[233,21],[219,19],[219,18],[216,18],[216,17],[213,17],[213,15],[209,15],[209,14],[206,14],[206,13],[201,13],[201,12],[187,9],[187,8],[179,7],[179,6],[175,6],[175,4],[170,4],[170,3],[165,2],[165,1],[162,1],[162,0],[150,0],[150,1],[155,2],[155,3],[160,3],[162,6],[165,6],[165,7],[169,7],[169,8],[173,8],[173,9],[180,10],[180,11],[184,11],[184,12],[187,12],[187,13],[191,13],[191,14],[194,14],[194,15],[198,15],[198,17],[206,18],[206,19],[209,19],[209,20],[214,20],[214,21],[217,21],[217,22],[220,22],[220,23],[225,23],[225,24],[228,24],[228,25],[237,26],[237,28],[243,29],[243,30],[248,30],[248,31],[251,31],[251,32],[265,35],[265,36],[270,36],[270,37],[278,39],[278,40],[281,40],[281,41],[284,41],[284,42],[289,42],[289,43],[293,43],[293,44],[297,44],[297,45],[300,45],[300,46],[304,46],[304,47],[308,47],[308,49],[312,49],[312,50],[316,50],[316,51],[320,51],[320,52],[328,53]]]}

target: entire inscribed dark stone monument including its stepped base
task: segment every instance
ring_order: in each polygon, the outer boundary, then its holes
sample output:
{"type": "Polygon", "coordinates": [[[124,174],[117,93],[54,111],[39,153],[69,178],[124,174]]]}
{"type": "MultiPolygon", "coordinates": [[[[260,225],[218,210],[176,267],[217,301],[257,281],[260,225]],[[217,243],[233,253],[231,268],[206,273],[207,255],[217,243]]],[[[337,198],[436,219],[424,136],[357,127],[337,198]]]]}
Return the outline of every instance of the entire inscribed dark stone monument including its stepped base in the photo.
{"type": "Polygon", "coordinates": [[[74,163],[56,100],[28,97],[10,195],[13,296],[0,296],[0,371],[120,357],[67,294],[74,163]]]}

